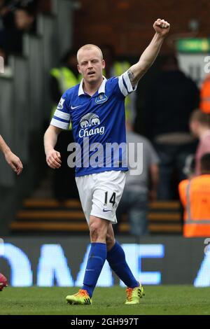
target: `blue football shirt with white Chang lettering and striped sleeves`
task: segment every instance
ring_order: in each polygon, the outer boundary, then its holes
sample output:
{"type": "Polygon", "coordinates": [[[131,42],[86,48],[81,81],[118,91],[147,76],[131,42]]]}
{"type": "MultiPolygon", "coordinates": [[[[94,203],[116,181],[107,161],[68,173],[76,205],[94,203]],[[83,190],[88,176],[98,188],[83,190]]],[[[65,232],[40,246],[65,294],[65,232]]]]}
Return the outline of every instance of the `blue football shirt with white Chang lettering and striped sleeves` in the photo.
{"type": "Polygon", "coordinates": [[[80,84],[66,90],[50,125],[63,130],[72,125],[76,142],[76,176],[111,170],[127,171],[125,97],[132,87],[127,71],[104,78],[92,96],[80,84]]]}

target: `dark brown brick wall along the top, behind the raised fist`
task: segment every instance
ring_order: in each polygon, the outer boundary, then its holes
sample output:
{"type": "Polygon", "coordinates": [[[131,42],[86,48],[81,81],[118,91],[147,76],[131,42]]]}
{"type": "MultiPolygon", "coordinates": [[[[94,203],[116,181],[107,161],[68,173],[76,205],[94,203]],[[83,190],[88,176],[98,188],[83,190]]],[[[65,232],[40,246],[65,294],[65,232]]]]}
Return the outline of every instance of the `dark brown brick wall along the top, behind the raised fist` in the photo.
{"type": "Polygon", "coordinates": [[[153,22],[164,18],[172,29],[162,52],[169,52],[174,38],[190,35],[192,19],[200,25],[195,35],[209,36],[209,12],[209,0],[80,0],[73,43],[111,43],[117,55],[138,56],[153,36],[153,22]]]}

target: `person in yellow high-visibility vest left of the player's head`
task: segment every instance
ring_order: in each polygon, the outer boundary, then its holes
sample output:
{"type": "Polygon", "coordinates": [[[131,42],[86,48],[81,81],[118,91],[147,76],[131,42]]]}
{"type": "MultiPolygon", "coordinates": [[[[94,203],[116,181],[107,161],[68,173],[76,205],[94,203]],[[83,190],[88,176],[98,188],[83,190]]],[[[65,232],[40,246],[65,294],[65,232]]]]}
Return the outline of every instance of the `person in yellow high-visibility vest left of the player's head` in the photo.
{"type": "MultiPolygon", "coordinates": [[[[75,50],[68,50],[62,57],[61,65],[50,70],[50,98],[52,101],[50,120],[57,109],[62,94],[80,83],[76,54],[75,50]]],[[[67,164],[69,156],[67,147],[72,142],[73,134],[70,125],[69,130],[62,131],[57,139],[57,151],[61,154],[63,161],[60,169],[55,172],[53,177],[53,190],[55,198],[60,202],[69,198],[78,198],[78,189],[74,178],[75,170],[67,164]]]]}

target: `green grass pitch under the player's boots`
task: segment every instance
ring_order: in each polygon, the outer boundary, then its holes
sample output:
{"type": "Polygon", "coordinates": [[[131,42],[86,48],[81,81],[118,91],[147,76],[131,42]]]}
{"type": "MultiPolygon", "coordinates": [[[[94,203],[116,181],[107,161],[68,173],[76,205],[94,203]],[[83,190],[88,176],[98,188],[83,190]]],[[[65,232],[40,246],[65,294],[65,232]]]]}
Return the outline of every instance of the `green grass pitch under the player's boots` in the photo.
{"type": "Polygon", "coordinates": [[[5,288],[0,293],[0,314],[141,315],[210,314],[210,288],[145,286],[139,305],[125,305],[125,289],[96,288],[92,305],[66,304],[77,288],[5,288]]]}

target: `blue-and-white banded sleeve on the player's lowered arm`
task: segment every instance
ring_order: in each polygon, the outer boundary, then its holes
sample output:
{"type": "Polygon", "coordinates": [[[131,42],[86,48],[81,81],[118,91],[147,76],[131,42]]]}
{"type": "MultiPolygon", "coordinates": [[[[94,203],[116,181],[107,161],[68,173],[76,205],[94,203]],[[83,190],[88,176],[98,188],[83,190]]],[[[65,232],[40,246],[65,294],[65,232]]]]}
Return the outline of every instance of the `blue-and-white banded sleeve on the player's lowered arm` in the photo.
{"type": "Polygon", "coordinates": [[[55,110],[54,116],[50,122],[50,125],[61,128],[63,130],[68,130],[71,122],[68,106],[68,95],[66,92],[62,95],[59,101],[57,109],[55,110]]]}

